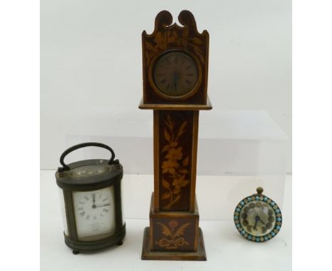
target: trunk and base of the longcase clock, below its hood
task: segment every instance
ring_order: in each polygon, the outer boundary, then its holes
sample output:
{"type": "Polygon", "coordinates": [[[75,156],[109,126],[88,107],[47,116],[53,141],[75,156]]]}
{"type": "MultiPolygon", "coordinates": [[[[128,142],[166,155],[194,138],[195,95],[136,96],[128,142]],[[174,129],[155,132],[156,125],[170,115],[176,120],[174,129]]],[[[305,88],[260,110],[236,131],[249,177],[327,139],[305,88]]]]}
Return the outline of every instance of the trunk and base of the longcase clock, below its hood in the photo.
{"type": "Polygon", "coordinates": [[[154,110],[154,190],[143,260],[206,260],[195,197],[199,111],[154,110]]]}

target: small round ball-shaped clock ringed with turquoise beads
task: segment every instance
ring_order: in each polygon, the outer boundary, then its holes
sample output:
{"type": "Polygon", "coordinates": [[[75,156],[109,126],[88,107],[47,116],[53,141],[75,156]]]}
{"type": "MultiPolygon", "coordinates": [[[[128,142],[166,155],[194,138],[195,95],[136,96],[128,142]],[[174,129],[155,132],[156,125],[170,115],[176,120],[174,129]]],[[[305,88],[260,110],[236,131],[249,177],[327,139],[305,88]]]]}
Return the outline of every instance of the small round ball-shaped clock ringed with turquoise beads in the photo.
{"type": "Polygon", "coordinates": [[[262,194],[262,187],[256,191],[257,194],[245,197],[238,203],[234,211],[234,223],[244,238],[265,242],[279,233],[282,214],[275,201],[262,194]]]}

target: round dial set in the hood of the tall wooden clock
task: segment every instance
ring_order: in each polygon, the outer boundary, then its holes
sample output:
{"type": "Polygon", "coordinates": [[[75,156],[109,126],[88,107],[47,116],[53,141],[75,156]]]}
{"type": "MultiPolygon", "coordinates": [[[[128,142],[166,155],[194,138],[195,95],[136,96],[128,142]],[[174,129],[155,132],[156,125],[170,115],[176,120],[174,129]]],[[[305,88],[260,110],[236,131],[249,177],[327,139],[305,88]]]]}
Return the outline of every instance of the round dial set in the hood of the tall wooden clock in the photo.
{"type": "Polygon", "coordinates": [[[183,96],[191,92],[198,79],[197,64],[184,52],[167,52],[153,67],[155,86],[167,96],[183,96]]]}

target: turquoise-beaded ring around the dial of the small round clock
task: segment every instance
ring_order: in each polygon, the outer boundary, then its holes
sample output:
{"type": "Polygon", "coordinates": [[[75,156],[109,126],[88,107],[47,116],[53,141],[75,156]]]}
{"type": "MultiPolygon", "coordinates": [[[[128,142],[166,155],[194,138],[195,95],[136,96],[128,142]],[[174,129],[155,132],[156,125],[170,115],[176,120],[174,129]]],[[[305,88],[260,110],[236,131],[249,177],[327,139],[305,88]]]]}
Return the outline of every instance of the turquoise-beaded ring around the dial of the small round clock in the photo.
{"type": "Polygon", "coordinates": [[[280,211],[279,206],[275,203],[275,201],[272,201],[272,199],[266,197],[263,194],[253,194],[251,196],[242,199],[238,203],[238,205],[236,205],[233,219],[240,235],[243,236],[243,238],[255,243],[266,242],[267,240],[274,238],[277,235],[277,233],[280,232],[282,226],[282,213],[280,211]],[[265,236],[255,236],[253,233],[245,231],[245,228],[243,228],[243,226],[240,223],[240,211],[243,208],[243,206],[245,206],[245,204],[247,204],[250,201],[261,201],[264,202],[265,204],[269,204],[271,206],[271,209],[275,212],[275,217],[276,217],[275,226],[274,228],[272,228],[272,230],[269,233],[265,234],[265,236]]]}

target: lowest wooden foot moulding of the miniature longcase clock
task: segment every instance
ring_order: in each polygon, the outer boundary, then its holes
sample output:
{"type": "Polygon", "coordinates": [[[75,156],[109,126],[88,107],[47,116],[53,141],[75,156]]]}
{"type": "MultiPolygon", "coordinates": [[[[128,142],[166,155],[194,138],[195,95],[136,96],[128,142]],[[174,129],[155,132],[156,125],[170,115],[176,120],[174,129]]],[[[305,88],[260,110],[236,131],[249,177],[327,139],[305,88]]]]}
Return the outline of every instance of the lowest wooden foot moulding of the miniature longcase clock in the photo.
{"type": "Polygon", "coordinates": [[[150,227],[144,229],[142,260],[206,260],[203,233],[199,228],[197,252],[150,251],[150,227]]]}

